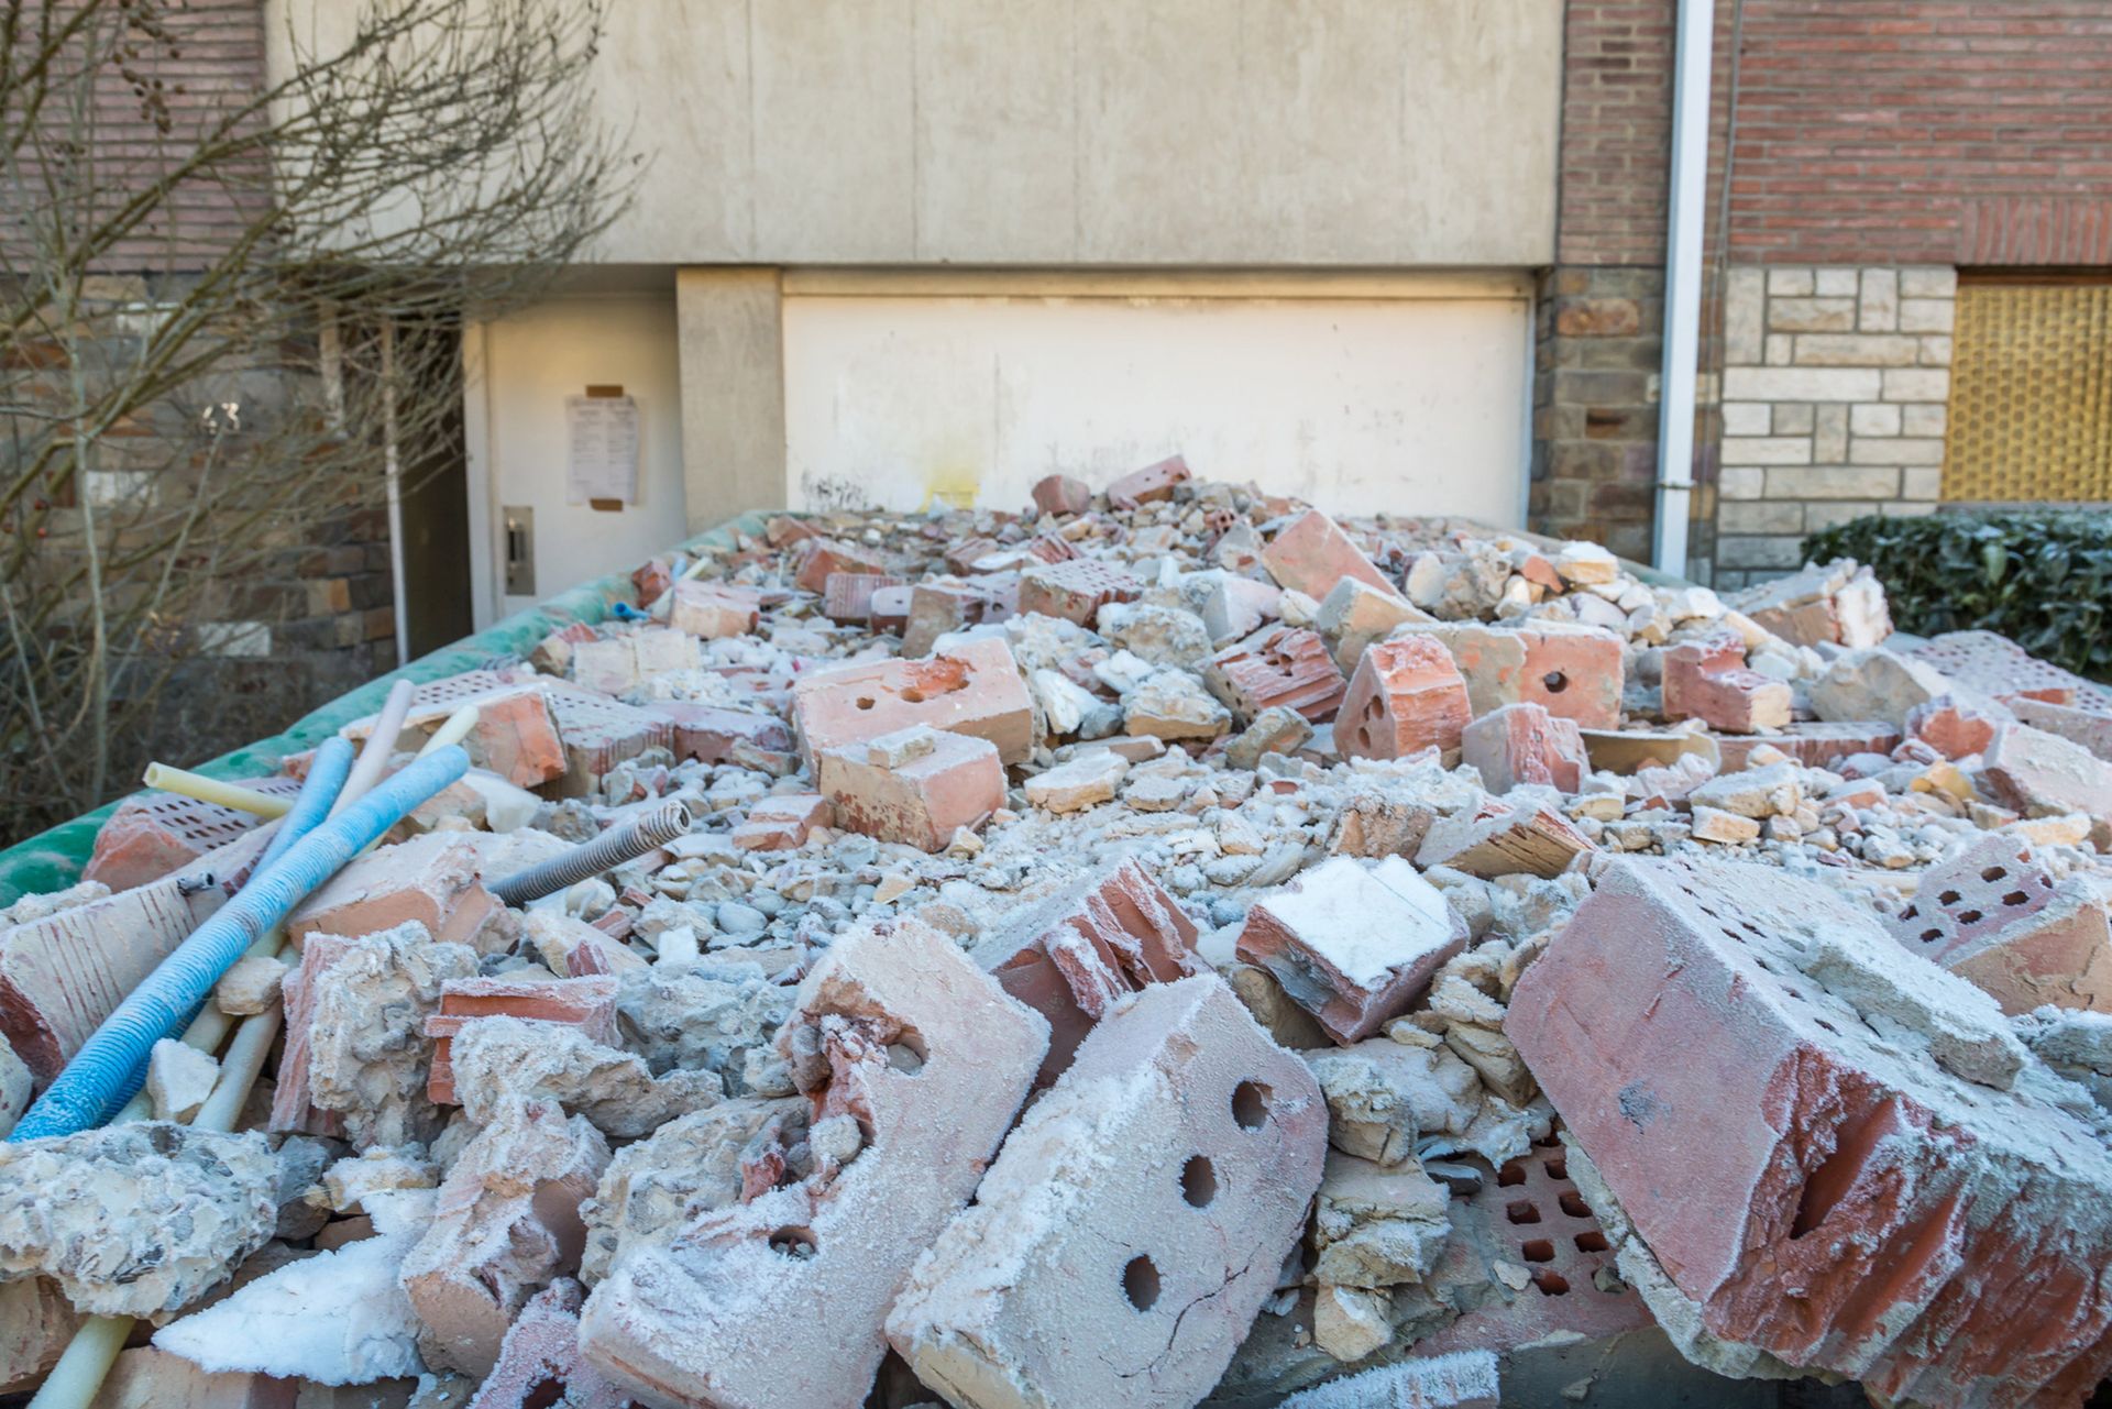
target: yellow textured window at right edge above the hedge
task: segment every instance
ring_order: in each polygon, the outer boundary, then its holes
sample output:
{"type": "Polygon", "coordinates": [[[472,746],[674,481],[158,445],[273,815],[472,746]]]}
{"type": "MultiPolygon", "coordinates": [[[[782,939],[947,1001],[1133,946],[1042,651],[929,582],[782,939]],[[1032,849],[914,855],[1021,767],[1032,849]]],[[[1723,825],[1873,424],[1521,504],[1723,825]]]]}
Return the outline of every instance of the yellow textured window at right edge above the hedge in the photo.
{"type": "Polygon", "coordinates": [[[1958,285],[1943,499],[2112,499],[2112,285],[1958,285]]]}

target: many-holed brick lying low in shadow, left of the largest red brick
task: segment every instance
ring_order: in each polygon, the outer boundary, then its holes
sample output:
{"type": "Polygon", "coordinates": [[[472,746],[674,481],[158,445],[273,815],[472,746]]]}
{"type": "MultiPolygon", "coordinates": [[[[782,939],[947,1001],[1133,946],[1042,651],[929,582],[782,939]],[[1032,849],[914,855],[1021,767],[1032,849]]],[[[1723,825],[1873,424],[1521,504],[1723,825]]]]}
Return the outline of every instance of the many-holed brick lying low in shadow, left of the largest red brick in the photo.
{"type": "Polygon", "coordinates": [[[1550,1134],[1489,1172],[1481,1189],[1451,1202],[1453,1242],[1432,1282],[1487,1280],[1500,1291],[1417,1341],[1417,1354],[1512,1350],[1565,1333],[1601,1339],[1652,1325],[1649,1308],[1614,1267],[1559,1139],[1550,1134]],[[1519,1270],[1525,1286],[1512,1286],[1519,1270]]]}

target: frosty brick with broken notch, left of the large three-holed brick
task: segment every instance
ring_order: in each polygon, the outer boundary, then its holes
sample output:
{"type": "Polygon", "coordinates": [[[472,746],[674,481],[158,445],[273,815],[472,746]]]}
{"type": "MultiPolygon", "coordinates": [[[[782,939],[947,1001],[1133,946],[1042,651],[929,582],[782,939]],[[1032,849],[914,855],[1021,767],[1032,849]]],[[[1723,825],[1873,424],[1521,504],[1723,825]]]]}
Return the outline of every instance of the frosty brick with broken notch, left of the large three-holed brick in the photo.
{"type": "Polygon", "coordinates": [[[587,1363],[659,1405],[864,1405],[887,1308],[974,1194],[1045,1046],[1048,1025],[936,929],[838,940],[779,1048],[817,1120],[855,1113],[866,1149],[625,1251],[581,1314],[587,1363]]]}

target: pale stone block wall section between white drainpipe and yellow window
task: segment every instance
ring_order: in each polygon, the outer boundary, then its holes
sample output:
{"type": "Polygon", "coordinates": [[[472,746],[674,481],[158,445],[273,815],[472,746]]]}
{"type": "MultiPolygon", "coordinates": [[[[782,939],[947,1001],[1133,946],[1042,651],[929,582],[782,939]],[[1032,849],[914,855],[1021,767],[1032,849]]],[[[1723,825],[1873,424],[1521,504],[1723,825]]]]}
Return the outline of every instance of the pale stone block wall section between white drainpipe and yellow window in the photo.
{"type": "Polygon", "coordinates": [[[1937,507],[1956,296],[1943,266],[1730,270],[1717,587],[1795,568],[1818,528],[1937,507]]]}

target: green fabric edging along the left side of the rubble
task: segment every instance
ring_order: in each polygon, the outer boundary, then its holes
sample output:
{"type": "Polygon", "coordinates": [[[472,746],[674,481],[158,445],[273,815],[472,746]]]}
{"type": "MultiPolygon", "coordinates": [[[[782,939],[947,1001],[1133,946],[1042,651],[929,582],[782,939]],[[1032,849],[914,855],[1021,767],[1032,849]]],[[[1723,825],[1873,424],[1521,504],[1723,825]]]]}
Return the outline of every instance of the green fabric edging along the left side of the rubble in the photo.
{"type": "MultiPolygon", "coordinates": [[[[769,515],[765,513],[741,513],[724,524],[718,524],[716,528],[708,528],[701,534],[686,539],[676,547],[676,551],[686,553],[699,547],[731,547],[735,532],[746,532],[750,537],[760,534],[767,520],[769,515]]],[[[591,583],[581,583],[579,587],[560,591],[547,602],[517,610],[484,632],[465,636],[452,646],[441,646],[431,655],[418,657],[410,665],[391,670],[384,676],[367,680],[355,691],[338,695],[319,710],[302,716],[300,722],[285,733],[258,739],[256,744],[237,748],[234,752],[222,754],[211,763],[201,763],[194,771],[205,773],[207,777],[226,779],[264,777],[277,773],[279,760],[287,754],[315,748],[351,720],[380,710],[382,701],[389,697],[389,687],[397,680],[425,684],[427,680],[444,680],[448,676],[458,676],[465,670],[475,670],[494,655],[528,655],[534,651],[536,642],[558,627],[572,625],[574,621],[604,621],[615,602],[629,602],[634,587],[629,570],[610,572],[608,577],[598,577],[591,583]]],[[[125,799],[106,803],[87,815],[61,822],[46,832],[38,832],[36,837],[0,851],[0,906],[15,904],[23,896],[65,889],[78,881],[80,868],[87,866],[89,856],[95,853],[95,834],[122,801],[125,799]]]]}

